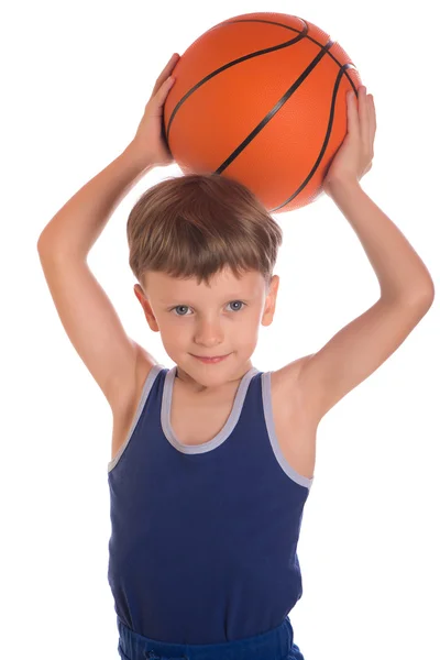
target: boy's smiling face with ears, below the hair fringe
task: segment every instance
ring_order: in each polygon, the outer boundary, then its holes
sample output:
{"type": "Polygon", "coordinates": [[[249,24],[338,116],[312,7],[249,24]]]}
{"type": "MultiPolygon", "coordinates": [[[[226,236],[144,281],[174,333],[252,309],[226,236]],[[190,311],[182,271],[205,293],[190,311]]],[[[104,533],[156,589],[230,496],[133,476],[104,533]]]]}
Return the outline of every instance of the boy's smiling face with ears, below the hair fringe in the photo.
{"type": "Polygon", "coordinates": [[[148,272],[145,293],[139,284],[134,293],[150,328],[161,332],[178,365],[178,377],[201,391],[241,378],[251,369],[260,324],[270,326],[274,317],[278,284],[274,275],[267,292],[261,273],[251,271],[239,279],[229,267],[210,286],[148,272]],[[228,358],[205,363],[195,355],[228,358]]]}

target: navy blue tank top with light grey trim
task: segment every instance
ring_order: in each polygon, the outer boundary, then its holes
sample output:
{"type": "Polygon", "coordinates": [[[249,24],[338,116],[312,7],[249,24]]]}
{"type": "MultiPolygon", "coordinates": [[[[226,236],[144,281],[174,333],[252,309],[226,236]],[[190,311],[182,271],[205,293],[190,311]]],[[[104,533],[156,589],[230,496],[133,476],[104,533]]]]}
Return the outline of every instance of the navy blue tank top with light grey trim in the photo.
{"type": "Polygon", "coordinates": [[[222,644],[279,626],[302,595],[297,543],[312,479],[275,436],[271,372],[242,377],[224,427],[195,446],[170,425],[177,366],[155,364],[108,464],[108,580],[151,639],[222,644]]]}

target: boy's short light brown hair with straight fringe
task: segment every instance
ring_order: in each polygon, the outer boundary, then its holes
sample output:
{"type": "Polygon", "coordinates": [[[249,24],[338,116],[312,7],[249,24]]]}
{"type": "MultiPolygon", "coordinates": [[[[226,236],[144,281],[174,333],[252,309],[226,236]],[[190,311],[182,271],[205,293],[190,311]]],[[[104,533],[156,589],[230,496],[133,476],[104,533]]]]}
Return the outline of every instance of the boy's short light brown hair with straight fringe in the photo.
{"type": "Polygon", "coordinates": [[[272,278],[283,231],[245,186],[217,174],[168,177],[130,211],[130,267],[141,284],[148,271],[206,282],[229,266],[240,278],[272,278]]]}

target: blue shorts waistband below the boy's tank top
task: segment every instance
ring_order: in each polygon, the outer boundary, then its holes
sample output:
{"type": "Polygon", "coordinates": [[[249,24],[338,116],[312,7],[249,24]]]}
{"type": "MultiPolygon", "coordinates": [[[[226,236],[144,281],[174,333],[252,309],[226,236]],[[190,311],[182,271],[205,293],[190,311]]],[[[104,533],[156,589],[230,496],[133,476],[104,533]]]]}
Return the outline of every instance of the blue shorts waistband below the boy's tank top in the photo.
{"type": "Polygon", "coordinates": [[[268,632],[222,644],[168,644],[133,632],[119,617],[122,660],[304,660],[288,617],[268,632]]]}

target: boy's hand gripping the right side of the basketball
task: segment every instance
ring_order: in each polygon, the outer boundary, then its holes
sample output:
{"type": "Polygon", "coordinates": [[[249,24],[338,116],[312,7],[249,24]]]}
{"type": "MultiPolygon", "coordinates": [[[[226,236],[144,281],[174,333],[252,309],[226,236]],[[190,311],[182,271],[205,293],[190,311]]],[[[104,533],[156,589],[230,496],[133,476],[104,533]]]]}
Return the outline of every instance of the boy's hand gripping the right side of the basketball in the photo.
{"type": "Polygon", "coordinates": [[[334,182],[359,183],[372,168],[376,134],[373,95],[367,95],[363,85],[358,90],[358,100],[352,94],[346,98],[348,133],[324,177],[322,187],[326,193],[334,182]]]}

